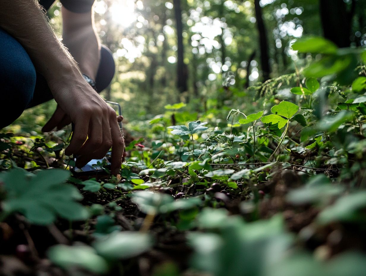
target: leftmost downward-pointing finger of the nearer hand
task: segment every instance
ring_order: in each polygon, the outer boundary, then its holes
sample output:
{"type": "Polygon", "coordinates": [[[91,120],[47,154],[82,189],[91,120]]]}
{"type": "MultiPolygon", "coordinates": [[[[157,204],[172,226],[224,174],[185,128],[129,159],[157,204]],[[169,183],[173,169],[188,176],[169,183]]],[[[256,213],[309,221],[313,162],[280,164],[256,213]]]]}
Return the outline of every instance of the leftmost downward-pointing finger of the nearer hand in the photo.
{"type": "Polygon", "coordinates": [[[83,146],[88,136],[89,120],[89,117],[81,116],[75,121],[74,133],[65,150],[65,155],[75,154],[83,146]]]}

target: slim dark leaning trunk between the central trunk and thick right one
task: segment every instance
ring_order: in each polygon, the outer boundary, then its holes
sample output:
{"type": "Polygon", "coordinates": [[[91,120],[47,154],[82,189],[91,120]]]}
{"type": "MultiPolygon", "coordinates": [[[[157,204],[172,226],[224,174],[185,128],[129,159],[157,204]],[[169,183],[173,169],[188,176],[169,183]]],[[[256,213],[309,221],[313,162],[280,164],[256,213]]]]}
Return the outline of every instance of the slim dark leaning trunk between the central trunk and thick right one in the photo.
{"type": "Polygon", "coordinates": [[[269,55],[268,55],[268,40],[266,33],[266,26],[262,18],[262,8],[259,5],[259,0],[254,0],[255,17],[257,18],[257,27],[259,33],[259,48],[261,49],[261,65],[263,80],[269,79],[269,55]]]}

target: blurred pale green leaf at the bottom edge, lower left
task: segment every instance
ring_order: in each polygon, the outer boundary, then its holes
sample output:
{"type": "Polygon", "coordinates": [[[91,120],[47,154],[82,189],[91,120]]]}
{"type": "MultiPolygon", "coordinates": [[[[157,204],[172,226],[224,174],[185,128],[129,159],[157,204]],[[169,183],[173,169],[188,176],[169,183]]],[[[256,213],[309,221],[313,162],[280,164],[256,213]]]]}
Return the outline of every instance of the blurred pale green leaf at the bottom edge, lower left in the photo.
{"type": "Polygon", "coordinates": [[[51,262],[66,270],[77,267],[97,274],[104,274],[109,270],[107,261],[86,245],[58,244],[47,251],[47,256],[51,262]]]}

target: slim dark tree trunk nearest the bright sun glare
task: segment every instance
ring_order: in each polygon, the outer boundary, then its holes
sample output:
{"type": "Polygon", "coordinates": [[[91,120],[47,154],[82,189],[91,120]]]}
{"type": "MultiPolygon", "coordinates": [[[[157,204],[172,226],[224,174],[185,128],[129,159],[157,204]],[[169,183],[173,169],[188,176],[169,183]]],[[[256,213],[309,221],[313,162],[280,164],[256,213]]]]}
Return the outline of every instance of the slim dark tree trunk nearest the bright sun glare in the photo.
{"type": "Polygon", "coordinates": [[[178,40],[177,87],[180,93],[187,91],[187,66],[184,64],[183,23],[180,0],[173,0],[178,40]]]}

